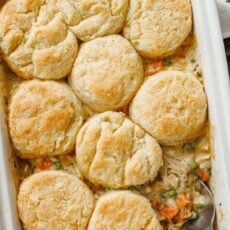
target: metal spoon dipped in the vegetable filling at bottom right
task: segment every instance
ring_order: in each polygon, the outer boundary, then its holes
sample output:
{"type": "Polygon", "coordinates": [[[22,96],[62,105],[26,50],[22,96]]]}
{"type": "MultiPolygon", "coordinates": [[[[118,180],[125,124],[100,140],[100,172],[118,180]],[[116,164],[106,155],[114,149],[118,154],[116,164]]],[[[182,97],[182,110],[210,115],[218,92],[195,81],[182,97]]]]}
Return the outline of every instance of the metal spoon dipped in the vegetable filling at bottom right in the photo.
{"type": "Polygon", "coordinates": [[[215,219],[213,195],[202,181],[199,182],[202,186],[202,193],[210,197],[210,203],[199,212],[199,215],[195,220],[186,222],[181,230],[213,230],[213,222],[215,219]]]}

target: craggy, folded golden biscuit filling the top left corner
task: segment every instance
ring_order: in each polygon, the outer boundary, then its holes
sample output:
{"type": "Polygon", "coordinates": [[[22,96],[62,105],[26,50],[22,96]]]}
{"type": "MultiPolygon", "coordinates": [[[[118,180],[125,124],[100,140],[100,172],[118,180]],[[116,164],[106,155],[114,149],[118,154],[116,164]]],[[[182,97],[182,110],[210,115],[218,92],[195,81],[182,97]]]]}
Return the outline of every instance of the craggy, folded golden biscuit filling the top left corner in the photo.
{"type": "Polygon", "coordinates": [[[77,55],[76,36],[58,6],[67,0],[12,0],[0,13],[0,47],[20,77],[61,79],[77,55]]]}

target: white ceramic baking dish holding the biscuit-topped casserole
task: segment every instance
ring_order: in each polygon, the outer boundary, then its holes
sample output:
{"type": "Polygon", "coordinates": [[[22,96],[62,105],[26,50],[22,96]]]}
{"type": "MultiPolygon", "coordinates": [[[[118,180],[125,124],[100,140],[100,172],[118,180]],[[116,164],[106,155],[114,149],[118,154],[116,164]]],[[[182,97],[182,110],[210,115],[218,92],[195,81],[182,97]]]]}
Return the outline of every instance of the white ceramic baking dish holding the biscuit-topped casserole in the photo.
{"type": "MultiPolygon", "coordinates": [[[[2,1],[1,1],[2,4],[2,1]]],[[[230,82],[215,0],[192,0],[194,30],[199,44],[209,118],[213,131],[212,181],[217,225],[230,229],[230,82]]],[[[0,77],[4,73],[0,67],[0,77]]],[[[3,98],[1,98],[1,105],[3,98]]],[[[0,106],[0,229],[20,229],[12,173],[12,152],[5,114],[0,106]]]]}

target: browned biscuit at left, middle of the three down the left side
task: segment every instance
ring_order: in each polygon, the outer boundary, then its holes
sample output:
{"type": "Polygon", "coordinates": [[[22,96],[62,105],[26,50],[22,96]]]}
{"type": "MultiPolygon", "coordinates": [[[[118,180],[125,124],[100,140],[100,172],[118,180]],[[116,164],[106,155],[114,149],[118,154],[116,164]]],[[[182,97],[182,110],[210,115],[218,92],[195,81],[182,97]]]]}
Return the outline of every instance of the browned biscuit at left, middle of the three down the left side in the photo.
{"type": "Polygon", "coordinates": [[[10,135],[21,158],[73,151],[84,113],[67,84],[35,79],[24,82],[12,96],[9,109],[10,135]]]}

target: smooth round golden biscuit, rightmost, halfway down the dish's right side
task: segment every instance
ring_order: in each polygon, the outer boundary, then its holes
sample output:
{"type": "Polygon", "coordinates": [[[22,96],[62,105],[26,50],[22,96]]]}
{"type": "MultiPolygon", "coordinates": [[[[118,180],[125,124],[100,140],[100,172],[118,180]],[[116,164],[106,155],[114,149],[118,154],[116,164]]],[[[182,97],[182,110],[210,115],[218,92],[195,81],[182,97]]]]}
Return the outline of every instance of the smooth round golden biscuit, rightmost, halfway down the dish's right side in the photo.
{"type": "Polygon", "coordinates": [[[204,124],[207,100],[192,73],[162,71],[146,79],[129,112],[160,144],[179,145],[194,138],[204,124]]]}

